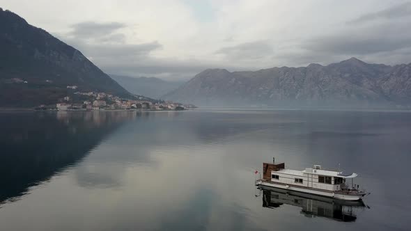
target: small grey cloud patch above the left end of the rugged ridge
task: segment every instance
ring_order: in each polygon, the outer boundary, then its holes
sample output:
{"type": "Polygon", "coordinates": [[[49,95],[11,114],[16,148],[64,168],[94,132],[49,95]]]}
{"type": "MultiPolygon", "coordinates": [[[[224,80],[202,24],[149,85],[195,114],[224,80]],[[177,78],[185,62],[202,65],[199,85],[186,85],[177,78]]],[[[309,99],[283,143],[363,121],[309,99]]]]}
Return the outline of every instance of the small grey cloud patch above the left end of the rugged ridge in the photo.
{"type": "Polygon", "coordinates": [[[233,47],[223,47],[215,51],[215,54],[224,54],[232,58],[261,58],[272,55],[272,47],[265,41],[246,42],[233,47]]]}

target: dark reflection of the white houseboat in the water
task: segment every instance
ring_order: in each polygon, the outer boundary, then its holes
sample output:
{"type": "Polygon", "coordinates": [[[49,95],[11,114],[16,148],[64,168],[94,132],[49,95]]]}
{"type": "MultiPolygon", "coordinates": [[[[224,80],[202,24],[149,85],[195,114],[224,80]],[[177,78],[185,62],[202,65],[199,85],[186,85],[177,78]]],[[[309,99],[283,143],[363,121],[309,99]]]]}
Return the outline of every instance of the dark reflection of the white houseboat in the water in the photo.
{"type": "Polygon", "coordinates": [[[320,216],[335,221],[352,222],[357,219],[358,210],[366,208],[362,200],[336,200],[266,186],[260,186],[258,189],[263,196],[263,207],[275,209],[284,204],[302,207],[301,213],[311,218],[320,216]]]}

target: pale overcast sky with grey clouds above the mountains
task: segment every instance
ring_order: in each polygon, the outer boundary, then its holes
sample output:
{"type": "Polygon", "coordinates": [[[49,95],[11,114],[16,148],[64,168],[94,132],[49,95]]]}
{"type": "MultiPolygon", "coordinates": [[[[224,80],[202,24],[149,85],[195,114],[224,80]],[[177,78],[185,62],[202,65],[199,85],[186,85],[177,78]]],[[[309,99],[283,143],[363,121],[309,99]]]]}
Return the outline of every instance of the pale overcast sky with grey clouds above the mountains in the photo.
{"type": "Polygon", "coordinates": [[[411,62],[411,1],[0,0],[109,74],[411,62]]]}

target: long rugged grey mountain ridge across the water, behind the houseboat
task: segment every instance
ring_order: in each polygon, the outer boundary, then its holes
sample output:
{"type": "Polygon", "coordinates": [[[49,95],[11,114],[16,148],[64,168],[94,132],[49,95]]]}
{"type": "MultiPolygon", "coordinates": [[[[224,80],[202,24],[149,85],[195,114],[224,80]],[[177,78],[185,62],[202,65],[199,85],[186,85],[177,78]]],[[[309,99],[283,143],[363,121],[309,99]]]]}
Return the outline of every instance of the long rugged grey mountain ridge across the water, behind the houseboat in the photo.
{"type": "Polygon", "coordinates": [[[350,58],[327,66],[208,69],[163,98],[208,106],[408,105],[411,63],[389,66],[350,58]]]}

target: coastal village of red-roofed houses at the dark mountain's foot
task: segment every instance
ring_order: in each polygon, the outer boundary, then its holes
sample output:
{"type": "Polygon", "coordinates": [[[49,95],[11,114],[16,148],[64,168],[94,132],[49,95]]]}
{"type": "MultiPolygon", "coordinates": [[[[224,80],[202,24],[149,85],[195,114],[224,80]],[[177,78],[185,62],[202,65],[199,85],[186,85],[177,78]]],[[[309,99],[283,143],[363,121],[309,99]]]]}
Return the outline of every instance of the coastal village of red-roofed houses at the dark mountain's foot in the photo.
{"type": "MultiPolygon", "coordinates": [[[[77,90],[77,86],[67,86],[70,90],[77,90]]],[[[150,110],[150,111],[183,111],[194,109],[192,104],[180,104],[171,101],[153,102],[146,97],[137,97],[137,99],[122,99],[102,92],[79,92],[73,93],[73,96],[66,96],[59,100],[54,110],[58,111],[92,111],[92,110],[150,110]],[[80,100],[84,99],[84,100],[80,100]]],[[[37,110],[47,110],[47,106],[40,105],[37,110]]]]}

